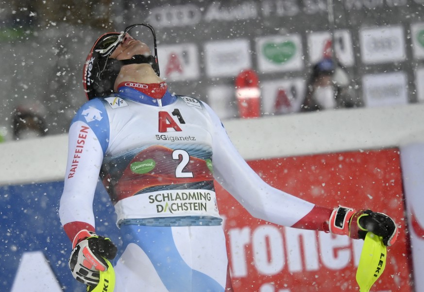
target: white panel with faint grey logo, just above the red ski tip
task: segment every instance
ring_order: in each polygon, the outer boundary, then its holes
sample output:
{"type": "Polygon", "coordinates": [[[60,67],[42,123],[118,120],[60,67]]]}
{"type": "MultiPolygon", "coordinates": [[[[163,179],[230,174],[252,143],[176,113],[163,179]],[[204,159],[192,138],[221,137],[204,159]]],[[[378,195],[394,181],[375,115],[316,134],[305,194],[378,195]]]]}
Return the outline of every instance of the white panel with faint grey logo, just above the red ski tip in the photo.
{"type": "Polygon", "coordinates": [[[207,42],[204,60],[208,77],[236,77],[241,70],[252,67],[249,40],[207,42]]]}

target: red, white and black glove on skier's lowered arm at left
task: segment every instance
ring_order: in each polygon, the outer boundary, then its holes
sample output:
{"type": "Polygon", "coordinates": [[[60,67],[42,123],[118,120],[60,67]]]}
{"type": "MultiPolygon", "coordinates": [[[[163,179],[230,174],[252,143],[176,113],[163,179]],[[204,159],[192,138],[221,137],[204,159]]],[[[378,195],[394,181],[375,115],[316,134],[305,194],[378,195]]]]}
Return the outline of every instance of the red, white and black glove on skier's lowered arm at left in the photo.
{"type": "Polygon", "coordinates": [[[72,276],[85,285],[96,286],[100,281],[99,271],[107,270],[104,258],[115,258],[117,247],[110,239],[85,229],[78,232],[72,246],[69,257],[72,276]]]}

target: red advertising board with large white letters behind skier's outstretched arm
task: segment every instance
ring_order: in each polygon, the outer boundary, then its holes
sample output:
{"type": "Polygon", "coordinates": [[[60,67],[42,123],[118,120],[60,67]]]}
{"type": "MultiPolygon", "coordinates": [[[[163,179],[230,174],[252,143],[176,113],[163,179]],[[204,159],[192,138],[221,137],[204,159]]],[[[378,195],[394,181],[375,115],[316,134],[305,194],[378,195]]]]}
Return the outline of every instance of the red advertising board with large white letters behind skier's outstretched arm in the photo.
{"type": "MultiPolygon", "coordinates": [[[[386,269],[371,291],[413,291],[398,149],[248,163],[271,186],[317,205],[390,214],[400,236],[388,248],[386,269]]],[[[217,192],[235,291],[359,291],[355,275],[362,240],[257,220],[218,185],[217,192]]]]}

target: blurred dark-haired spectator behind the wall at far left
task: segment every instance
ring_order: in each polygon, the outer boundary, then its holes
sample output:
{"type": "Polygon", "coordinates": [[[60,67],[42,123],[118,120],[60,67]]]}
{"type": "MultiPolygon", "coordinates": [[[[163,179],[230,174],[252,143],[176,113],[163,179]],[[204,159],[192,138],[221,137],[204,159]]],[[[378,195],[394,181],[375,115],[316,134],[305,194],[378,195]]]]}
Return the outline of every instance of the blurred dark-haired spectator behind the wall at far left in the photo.
{"type": "Polygon", "coordinates": [[[46,136],[46,124],[40,113],[33,108],[18,107],[12,118],[15,140],[46,136]]]}

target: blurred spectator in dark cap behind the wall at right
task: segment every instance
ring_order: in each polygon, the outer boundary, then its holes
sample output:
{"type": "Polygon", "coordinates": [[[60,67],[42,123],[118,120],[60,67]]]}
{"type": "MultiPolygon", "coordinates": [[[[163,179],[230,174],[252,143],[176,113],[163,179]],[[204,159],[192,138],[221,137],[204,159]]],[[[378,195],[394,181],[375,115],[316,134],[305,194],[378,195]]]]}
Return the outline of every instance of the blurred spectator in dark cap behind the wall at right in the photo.
{"type": "Polygon", "coordinates": [[[324,58],[312,68],[301,111],[354,107],[349,91],[346,71],[331,58],[324,58]]]}

